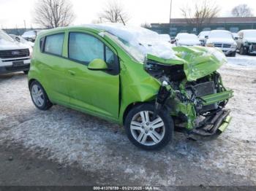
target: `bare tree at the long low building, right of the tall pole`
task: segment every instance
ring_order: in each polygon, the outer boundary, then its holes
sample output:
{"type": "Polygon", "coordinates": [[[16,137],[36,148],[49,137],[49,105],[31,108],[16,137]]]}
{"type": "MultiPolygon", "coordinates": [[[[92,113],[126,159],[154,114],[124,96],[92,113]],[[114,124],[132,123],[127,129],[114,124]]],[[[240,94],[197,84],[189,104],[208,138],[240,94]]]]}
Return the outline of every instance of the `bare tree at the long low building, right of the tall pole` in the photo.
{"type": "Polygon", "coordinates": [[[208,0],[195,3],[194,7],[181,8],[182,15],[187,20],[187,23],[200,28],[205,23],[211,23],[213,17],[217,17],[219,7],[208,0]]]}

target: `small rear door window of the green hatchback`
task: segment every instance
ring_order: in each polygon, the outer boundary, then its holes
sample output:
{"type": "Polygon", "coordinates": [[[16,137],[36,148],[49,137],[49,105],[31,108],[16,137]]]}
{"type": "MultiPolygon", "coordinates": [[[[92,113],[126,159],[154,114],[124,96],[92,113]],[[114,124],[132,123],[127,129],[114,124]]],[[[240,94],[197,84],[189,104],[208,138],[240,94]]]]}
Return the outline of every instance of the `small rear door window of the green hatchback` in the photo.
{"type": "Polygon", "coordinates": [[[45,37],[45,50],[53,55],[62,55],[64,34],[53,34],[45,37]]]}

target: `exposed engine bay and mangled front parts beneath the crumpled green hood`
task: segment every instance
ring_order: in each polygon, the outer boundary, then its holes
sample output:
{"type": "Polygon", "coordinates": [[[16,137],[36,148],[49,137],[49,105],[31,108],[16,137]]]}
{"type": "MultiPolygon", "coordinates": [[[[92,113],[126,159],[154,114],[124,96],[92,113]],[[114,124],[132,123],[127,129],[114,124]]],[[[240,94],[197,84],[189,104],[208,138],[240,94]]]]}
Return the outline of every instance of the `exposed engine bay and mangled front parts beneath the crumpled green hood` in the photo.
{"type": "Polygon", "coordinates": [[[167,65],[148,60],[144,68],[162,83],[157,95],[156,112],[162,107],[169,109],[176,119],[176,126],[186,128],[190,133],[201,136],[217,133],[230,113],[224,107],[232,96],[232,91],[225,89],[217,71],[188,82],[183,65],[167,65]],[[228,98],[223,96],[216,99],[226,92],[229,93],[228,98]]]}

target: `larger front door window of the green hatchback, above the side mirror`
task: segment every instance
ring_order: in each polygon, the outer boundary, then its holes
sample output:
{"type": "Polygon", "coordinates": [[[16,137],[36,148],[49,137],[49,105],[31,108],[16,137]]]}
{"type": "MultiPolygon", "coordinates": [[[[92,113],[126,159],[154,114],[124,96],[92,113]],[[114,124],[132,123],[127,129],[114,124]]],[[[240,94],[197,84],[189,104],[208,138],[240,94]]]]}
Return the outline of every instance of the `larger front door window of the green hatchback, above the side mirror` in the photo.
{"type": "Polygon", "coordinates": [[[89,34],[69,33],[69,58],[86,64],[95,58],[105,60],[104,44],[89,34]]]}

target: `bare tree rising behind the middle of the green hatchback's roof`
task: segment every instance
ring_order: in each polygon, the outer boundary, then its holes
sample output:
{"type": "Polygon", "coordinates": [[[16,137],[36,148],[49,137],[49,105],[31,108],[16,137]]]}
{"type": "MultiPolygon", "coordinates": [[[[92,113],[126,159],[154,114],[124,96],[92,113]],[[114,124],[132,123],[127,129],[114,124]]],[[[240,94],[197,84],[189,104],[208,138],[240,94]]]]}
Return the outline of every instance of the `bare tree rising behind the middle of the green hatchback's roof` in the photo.
{"type": "Polygon", "coordinates": [[[110,1],[105,8],[99,13],[102,21],[110,23],[127,23],[129,15],[124,11],[124,7],[117,1],[110,1]]]}

